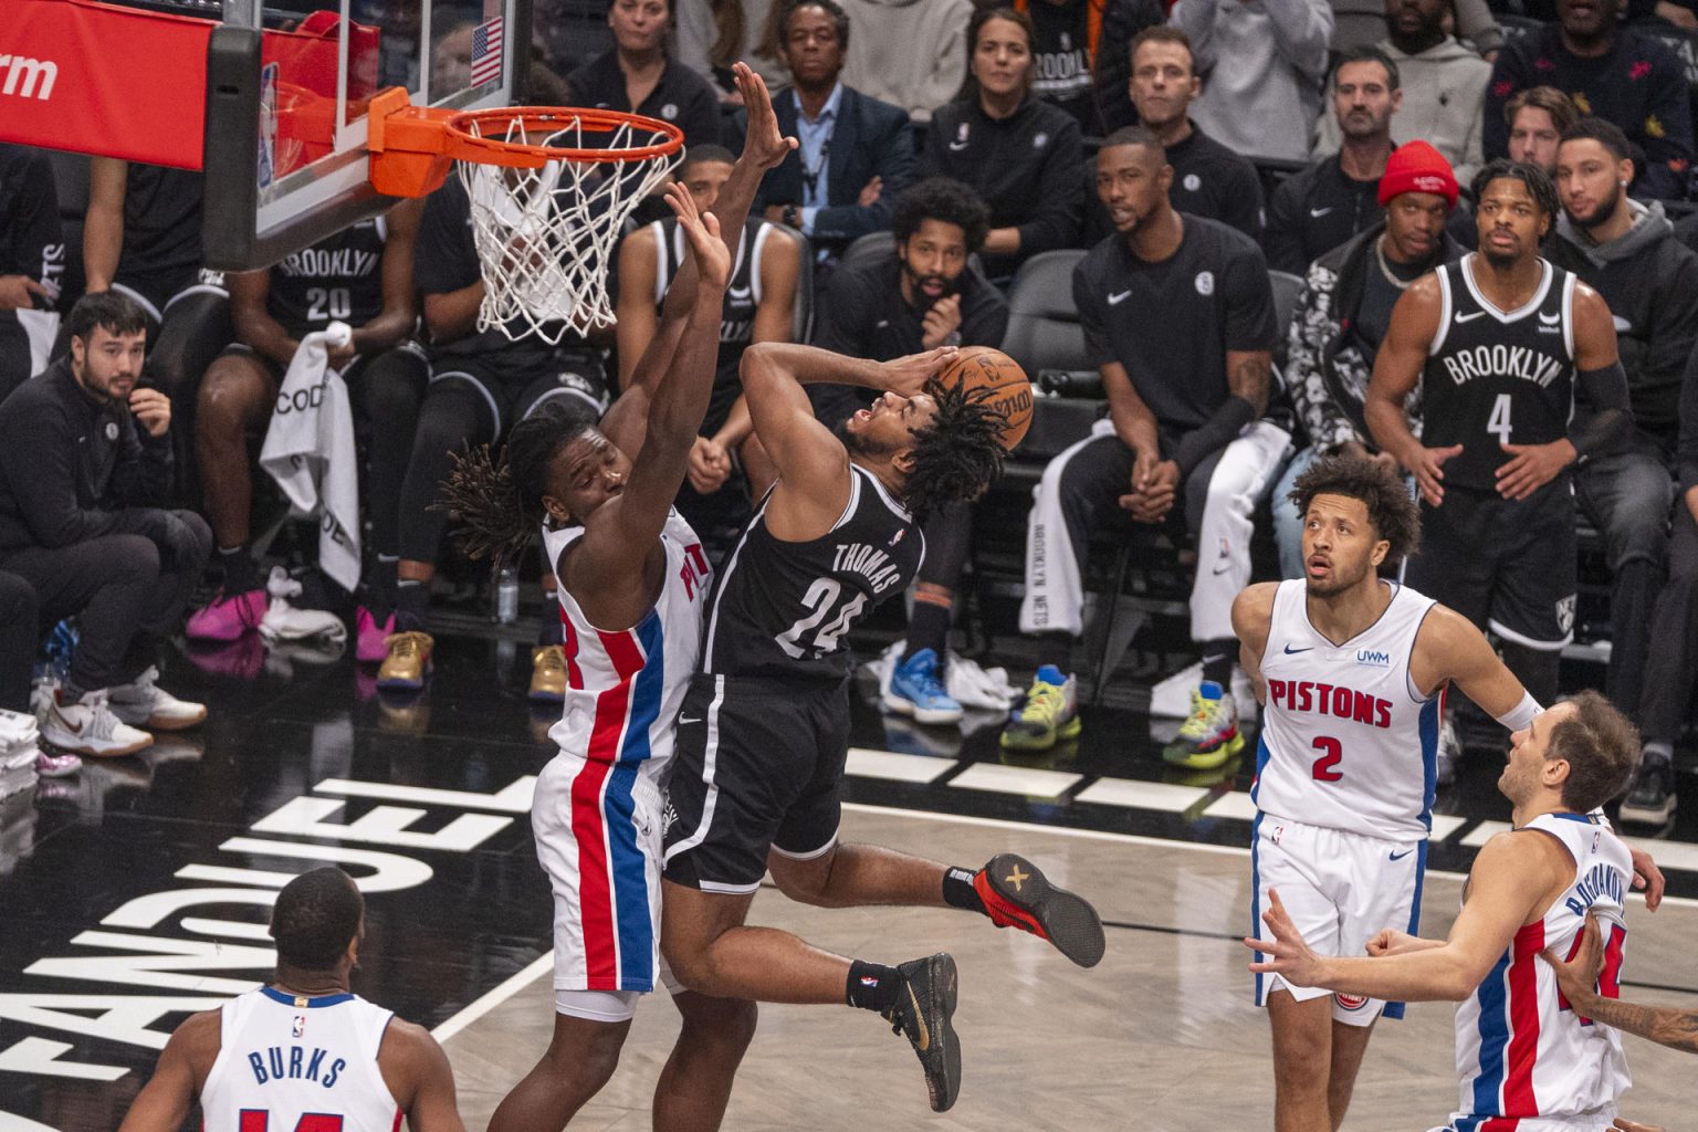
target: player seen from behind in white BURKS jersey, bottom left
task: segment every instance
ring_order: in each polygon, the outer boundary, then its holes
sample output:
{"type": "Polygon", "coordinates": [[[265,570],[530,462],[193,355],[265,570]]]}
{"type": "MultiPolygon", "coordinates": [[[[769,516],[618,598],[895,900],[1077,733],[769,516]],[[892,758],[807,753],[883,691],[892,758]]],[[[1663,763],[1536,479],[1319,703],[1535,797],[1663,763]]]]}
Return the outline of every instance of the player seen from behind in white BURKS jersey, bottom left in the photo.
{"type": "Polygon", "coordinates": [[[350,993],[365,901],[341,869],[285,884],[272,908],[277,976],[171,1034],[119,1132],[340,1129],[465,1132],[453,1069],[418,1025],[350,993]],[[255,1120],[258,1118],[258,1120],[255,1120]]]}

